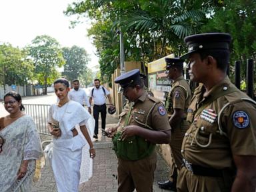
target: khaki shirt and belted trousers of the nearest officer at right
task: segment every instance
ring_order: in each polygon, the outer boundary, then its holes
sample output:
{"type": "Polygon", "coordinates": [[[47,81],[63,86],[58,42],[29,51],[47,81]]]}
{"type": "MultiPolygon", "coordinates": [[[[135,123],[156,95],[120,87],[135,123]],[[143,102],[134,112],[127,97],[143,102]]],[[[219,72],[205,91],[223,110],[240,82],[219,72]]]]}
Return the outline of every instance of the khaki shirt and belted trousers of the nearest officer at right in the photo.
{"type": "Polygon", "coordinates": [[[203,93],[199,85],[187,111],[192,124],[182,143],[177,189],[231,191],[233,155],[256,155],[256,106],[228,77],[203,93]]]}

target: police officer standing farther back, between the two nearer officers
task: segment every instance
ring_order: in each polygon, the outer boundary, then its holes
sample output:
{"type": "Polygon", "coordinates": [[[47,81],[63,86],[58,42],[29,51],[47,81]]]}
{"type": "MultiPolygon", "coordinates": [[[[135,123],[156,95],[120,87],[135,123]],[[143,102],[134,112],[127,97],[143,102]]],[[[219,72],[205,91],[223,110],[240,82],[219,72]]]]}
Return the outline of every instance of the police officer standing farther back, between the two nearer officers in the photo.
{"type": "Polygon", "coordinates": [[[186,121],[187,108],[191,100],[191,90],[189,84],[183,77],[184,60],[179,58],[165,58],[167,63],[167,75],[173,80],[171,91],[168,94],[167,112],[170,114],[169,123],[171,129],[171,156],[173,157],[173,165],[169,174],[169,180],[158,182],[161,189],[171,189],[176,191],[177,169],[182,165],[181,143],[189,123],[186,121]]]}

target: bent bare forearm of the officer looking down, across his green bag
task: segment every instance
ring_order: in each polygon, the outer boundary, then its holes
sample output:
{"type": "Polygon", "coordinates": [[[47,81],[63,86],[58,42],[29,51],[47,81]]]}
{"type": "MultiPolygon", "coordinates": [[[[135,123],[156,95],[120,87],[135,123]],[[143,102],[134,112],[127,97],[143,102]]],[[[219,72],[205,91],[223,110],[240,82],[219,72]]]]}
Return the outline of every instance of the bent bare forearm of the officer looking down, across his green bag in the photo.
{"type": "Polygon", "coordinates": [[[167,131],[153,131],[137,125],[128,125],[124,128],[121,139],[126,139],[127,137],[131,137],[133,135],[143,137],[152,143],[163,144],[169,143],[171,138],[171,129],[167,131]]]}

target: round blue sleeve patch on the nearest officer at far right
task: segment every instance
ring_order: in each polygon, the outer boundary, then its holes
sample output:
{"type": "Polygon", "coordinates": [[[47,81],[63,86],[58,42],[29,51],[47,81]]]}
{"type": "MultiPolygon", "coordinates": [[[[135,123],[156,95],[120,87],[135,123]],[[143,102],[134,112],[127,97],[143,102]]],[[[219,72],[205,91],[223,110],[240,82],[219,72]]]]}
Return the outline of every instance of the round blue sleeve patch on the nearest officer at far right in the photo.
{"type": "Polygon", "coordinates": [[[233,124],[239,129],[244,129],[249,125],[249,116],[245,111],[235,111],[233,113],[233,124]]]}

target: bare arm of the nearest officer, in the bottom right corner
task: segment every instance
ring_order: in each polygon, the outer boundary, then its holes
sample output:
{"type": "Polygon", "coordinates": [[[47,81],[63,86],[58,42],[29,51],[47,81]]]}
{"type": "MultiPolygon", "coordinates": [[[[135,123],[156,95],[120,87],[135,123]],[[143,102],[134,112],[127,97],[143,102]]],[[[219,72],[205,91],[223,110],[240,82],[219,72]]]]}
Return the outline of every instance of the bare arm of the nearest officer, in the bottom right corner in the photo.
{"type": "Polygon", "coordinates": [[[256,189],[256,156],[233,155],[237,167],[237,175],[233,183],[232,192],[248,191],[256,189]]]}

